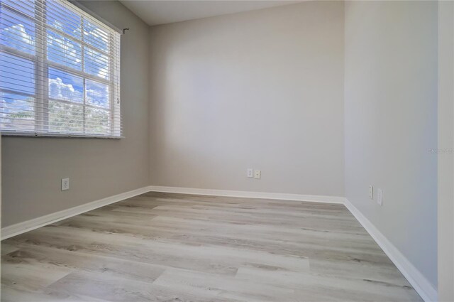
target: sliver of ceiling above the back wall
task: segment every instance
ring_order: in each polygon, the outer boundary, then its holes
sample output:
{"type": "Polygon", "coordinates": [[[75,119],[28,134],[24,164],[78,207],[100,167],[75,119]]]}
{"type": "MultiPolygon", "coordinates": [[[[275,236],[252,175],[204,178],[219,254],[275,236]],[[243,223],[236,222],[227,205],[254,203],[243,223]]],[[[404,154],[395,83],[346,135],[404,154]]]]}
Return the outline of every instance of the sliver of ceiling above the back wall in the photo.
{"type": "Polygon", "coordinates": [[[234,14],[242,11],[265,9],[272,6],[293,4],[299,1],[152,1],[120,0],[128,9],[148,25],[158,25],[198,18],[234,14]]]}

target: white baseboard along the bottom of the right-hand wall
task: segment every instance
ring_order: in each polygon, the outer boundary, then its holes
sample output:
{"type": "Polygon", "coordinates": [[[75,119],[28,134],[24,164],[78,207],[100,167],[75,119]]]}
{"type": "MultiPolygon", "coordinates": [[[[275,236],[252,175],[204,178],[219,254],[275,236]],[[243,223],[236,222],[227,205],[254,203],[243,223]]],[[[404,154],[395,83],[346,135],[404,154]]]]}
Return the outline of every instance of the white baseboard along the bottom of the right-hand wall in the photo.
{"type": "Polygon", "coordinates": [[[383,249],[383,252],[397,266],[397,269],[401,271],[406,280],[419,293],[419,296],[426,302],[438,301],[437,289],[432,286],[431,282],[346,198],[345,207],[348,208],[356,220],[360,222],[362,227],[365,228],[375,242],[383,249]]]}

